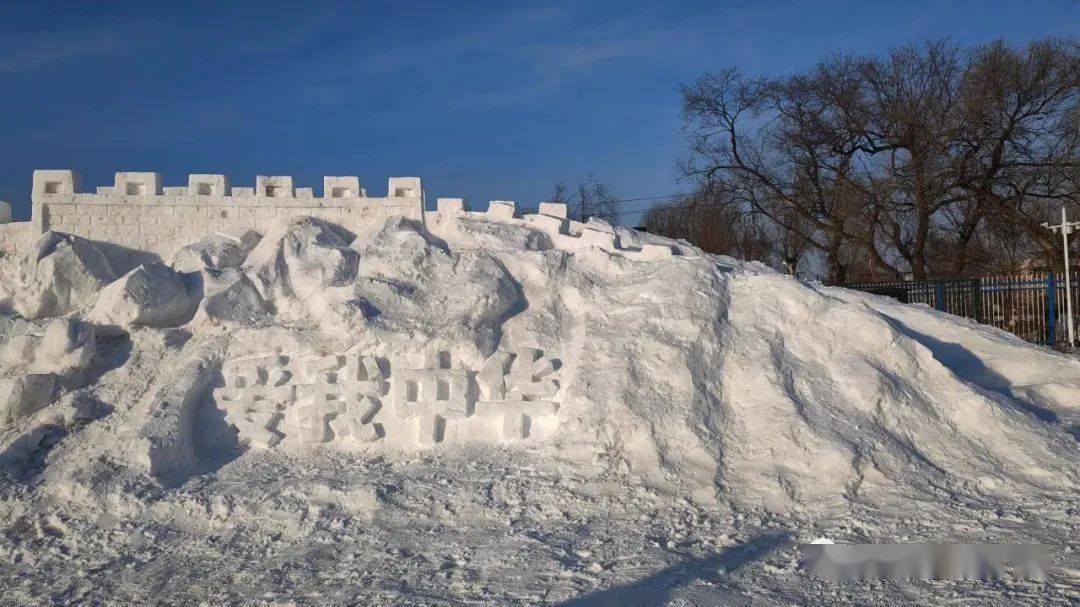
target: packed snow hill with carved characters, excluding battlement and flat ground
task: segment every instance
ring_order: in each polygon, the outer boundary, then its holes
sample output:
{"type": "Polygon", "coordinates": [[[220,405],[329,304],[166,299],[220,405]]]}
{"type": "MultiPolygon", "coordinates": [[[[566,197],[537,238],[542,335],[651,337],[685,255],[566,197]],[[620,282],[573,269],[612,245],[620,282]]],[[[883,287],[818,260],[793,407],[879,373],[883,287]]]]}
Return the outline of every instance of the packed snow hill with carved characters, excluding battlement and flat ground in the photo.
{"type": "MultiPolygon", "coordinates": [[[[270,462],[491,466],[505,453],[794,516],[900,496],[1076,495],[1080,361],[686,243],[594,231],[620,246],[570,248],[477,214],[361,237],[301,218],[135,267],[68,234],[10,242],[8,515],[137,518],[215,477],[269,483],[243,471],[270,462]]],[[[307,467],[272,482],[347,510],[378,499],[327,489],[323,472],[309,483],[307,467]]],[[[185,516],[271,523],[252,514],[265,497],[220,501],[232,486],[185,516]]]]}

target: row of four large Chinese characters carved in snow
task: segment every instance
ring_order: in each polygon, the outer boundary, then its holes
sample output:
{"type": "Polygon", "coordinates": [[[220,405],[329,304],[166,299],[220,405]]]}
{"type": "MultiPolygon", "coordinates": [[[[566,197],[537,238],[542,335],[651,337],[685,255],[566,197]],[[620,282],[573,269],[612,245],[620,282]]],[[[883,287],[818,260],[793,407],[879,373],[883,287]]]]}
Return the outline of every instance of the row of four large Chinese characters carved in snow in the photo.
{"type": "Polygon", "coordinates": [[[391,365],[356,352],[267,355],[227,363],[214,399],[240,442],[253,448],[284,440],[430,446],[446,439],[451,423],[461,424],[458,437],[489,437],[484,428],[492,420],[498,439],[523,440],[535,420],[555,420],[555,368],[534,348],[496,352],[477,373],[453,368],[447,352],[426,353],[419,365],[405,358],[391,365]],[[478,390],[470,389],[473,381],[478,390]]]}

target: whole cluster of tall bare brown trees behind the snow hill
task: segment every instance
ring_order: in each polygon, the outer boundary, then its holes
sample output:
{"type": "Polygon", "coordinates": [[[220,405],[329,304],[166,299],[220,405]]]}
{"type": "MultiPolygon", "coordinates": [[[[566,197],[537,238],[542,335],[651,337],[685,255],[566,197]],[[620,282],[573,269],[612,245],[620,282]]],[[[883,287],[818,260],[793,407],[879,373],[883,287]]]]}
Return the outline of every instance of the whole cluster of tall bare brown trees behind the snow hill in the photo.
{"type": "Polygon", "coordinates": [[[1002,266],[1005,226],[1029,247],[1009,255],[1052,256],[1041,221],[1080,204],[1072,41],[931,41],[780,79],[727,69],[683,102],[686,175],[723,192],[726,213],[771,224],[772,255],[784,242],[820,254],[829,281],[1002,266]]]}

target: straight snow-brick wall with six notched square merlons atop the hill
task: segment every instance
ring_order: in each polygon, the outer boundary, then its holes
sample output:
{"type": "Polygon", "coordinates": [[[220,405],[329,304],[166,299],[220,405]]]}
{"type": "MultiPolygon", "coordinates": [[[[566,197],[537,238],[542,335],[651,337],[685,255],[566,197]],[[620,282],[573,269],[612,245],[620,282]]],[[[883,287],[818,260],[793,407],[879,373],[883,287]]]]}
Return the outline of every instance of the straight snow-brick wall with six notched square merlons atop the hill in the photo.
{"type": "Polygon", "coordinates": [[[253,187],[235,187],[226,175],[194,174],[186,187],[170,187],[159,173],[121,172],[111,186],[83,192],[75,171],[35,171],[31,200],[38,233],[67,232],[163,259],[211,232],[266,233],[298,216],[357,234],[388,217],[424,219],[418,177],[391,177],[387,195],[376,198],[355,176],[323,177],[316,197],[314,188],[298,188],[287,175],[259,175],[253,187]]]}

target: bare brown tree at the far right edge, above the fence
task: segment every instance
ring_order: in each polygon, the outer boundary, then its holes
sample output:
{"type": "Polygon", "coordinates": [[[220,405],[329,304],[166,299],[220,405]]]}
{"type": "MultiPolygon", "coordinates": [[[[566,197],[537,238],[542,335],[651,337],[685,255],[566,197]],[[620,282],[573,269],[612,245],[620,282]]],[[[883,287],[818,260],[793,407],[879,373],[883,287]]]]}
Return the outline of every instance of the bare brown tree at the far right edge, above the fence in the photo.
{"type": "Polygon", "coordinates": [[[1080,45],[1047,39],[1020,51],[1003,42],[972,52],[963,83],[964,186],[987,215],[1023,231],[1048,258],[1041,227],[1080,203],[1080,45]]]}

